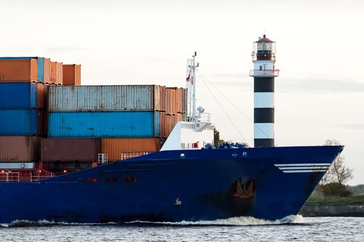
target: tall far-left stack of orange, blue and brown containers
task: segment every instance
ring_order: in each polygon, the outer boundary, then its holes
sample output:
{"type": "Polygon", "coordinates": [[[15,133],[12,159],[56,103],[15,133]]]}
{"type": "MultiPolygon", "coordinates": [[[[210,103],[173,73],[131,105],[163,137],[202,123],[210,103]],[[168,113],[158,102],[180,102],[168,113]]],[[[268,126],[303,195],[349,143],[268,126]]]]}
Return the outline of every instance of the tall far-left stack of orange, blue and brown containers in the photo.
{"type": "Polygon", "coordinates": [[[53,63],[52,69],[44,57],[0,57],[0,167],[28,167],[40,160],[49,85],[63,82],[62,63],[53,63]]]}

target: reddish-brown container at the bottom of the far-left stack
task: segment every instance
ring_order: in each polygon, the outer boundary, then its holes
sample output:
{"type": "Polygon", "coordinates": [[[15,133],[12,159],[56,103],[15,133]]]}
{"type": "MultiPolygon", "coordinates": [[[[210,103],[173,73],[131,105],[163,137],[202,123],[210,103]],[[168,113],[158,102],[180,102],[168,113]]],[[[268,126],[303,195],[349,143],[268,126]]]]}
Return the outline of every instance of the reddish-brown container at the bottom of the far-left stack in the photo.
{"type": "Polygon", "coordinates": [[[38,160],[40,138],[35,136],[0,136],[1,162],[38,160]]]}

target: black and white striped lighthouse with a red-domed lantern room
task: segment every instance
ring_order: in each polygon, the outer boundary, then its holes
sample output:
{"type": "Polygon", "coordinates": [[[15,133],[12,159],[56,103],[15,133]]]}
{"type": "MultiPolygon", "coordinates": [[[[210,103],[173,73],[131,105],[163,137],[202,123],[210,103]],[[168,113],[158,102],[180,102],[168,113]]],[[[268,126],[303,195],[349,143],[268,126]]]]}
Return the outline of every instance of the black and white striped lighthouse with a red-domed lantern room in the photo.
{"type": "Polygon", "coordinates": [[[254,147],[275,146],[275,42],[263,35],[254,42],[254,147]]]}

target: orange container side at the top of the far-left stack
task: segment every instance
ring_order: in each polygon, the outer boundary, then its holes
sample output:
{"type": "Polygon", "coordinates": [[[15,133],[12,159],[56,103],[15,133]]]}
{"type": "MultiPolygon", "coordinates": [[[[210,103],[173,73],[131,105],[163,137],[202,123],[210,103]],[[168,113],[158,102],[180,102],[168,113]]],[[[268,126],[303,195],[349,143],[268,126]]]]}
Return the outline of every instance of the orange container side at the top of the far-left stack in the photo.
{"type": "Polygon", "coordinates": [[[0,82],[37,82],[36,59],[1,59],[0,82]]]}

